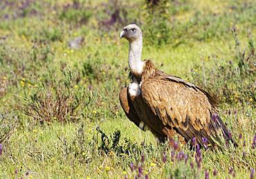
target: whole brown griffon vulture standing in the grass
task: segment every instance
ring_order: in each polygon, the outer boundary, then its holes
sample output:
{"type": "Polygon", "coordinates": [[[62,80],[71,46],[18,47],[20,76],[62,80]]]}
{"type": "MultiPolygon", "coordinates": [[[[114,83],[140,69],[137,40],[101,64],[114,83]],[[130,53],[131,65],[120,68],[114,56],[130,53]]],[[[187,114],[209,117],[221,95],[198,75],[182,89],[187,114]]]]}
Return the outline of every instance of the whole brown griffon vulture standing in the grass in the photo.
{"type": "Polygon", "coordinates": [[[174,141],[174,135],[180,141],[193,140],[205,148],[221,144],[221,136],[232,141],[217,115],[216,102],[207,91],[167,75],[150,60],[141,61],[143,36],[135,24],[125,26],[120,32],[122,37],[129,41],[132,82],[122,88],[119,98],[131,122],[143,131],[151,131],[160,142],[168,138],[174,141]]]}

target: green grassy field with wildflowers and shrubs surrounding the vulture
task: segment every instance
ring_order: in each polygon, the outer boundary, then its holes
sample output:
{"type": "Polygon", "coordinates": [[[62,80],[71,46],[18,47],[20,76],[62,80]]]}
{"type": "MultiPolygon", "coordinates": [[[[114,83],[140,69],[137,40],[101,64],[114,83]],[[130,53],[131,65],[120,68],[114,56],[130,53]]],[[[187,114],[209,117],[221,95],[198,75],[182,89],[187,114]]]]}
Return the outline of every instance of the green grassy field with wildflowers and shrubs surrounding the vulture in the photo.
{"type": "Polygon", "coordinates": [[[256,177],[255,14],[253,0],[0,1],[1,178],[256,177]],[[217,96],[239,147],[176,151],[129,122],[128,23],[144,59],[217,96]]]}

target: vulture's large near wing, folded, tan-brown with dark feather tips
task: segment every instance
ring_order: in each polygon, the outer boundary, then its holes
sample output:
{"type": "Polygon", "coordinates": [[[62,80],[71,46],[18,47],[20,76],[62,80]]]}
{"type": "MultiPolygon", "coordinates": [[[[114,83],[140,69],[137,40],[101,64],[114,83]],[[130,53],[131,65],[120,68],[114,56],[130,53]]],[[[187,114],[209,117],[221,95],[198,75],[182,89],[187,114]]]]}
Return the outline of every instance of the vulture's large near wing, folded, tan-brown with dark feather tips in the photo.
{"type": "Polygon", "coordinates": [[[186,142],[196,138],[205,146],[220,142],[219,134],[229,138],[229,132],[219,117],[214,117],[214,99],[198,86],[170,75],[146,79],[141,92],[143,100],[158,116],[159,122],[171,127],[183,136],[186,142]]]}

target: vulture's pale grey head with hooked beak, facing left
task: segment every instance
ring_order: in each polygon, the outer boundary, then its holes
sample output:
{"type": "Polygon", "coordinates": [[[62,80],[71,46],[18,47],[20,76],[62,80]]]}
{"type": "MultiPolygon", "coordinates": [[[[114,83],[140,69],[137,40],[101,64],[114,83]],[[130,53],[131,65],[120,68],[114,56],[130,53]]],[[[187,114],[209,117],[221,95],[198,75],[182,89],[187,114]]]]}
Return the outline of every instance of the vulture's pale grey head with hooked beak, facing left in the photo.
{"type": "Polygon", "coordinates": [[[120,39],[122,39],[122,37],[131,43],[137,39],[142,39],[143,34],[136,24],[129,24],[128,26],[125,26],[120,32],[120,39]]]}

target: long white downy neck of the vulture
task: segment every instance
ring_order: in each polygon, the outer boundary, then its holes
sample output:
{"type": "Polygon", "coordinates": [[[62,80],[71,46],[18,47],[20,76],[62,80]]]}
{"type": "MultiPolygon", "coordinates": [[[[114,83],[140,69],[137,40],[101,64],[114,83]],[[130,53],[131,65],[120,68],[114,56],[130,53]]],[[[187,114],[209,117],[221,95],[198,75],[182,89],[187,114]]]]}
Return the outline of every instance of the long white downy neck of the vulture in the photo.
{"type": "Polygon", "coordinates": [[[141,53],[143,51],[143,37],[139,37],[135,41],[129,43],[129,68],[132,75],[140,79],[143,73],[144,62],[141,61],[141,53]]]}

